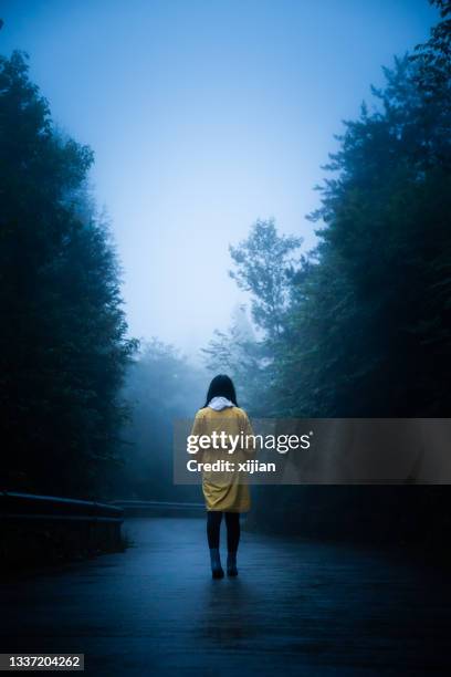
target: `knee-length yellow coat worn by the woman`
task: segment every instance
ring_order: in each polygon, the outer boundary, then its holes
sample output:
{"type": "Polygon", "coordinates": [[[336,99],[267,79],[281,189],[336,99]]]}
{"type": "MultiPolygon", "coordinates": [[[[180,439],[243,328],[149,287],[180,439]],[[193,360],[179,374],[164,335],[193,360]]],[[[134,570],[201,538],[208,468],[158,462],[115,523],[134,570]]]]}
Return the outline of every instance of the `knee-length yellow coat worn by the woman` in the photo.
{"type": "MultiPolygon", "coordinates": [[[[196,414],[191,435],[208,435],[213,431],[226,435],[253,435],[252,426],[247,413],[240,407],[228,407],[216,412],[210,407],[199,409],[196,414]]],[[[251,508],[251,496],[249,486],[243,479],[243,473],[238,472],[238,464],[252,458],[254,450],[252,446],[245,449],[238,446],[233,454],[223,449],[207,448],[199,450],[196,455],[198,461],[214,462],[218,459],[230,460],[234,464],[234,470],[227,472],[202,471],[202,491],[206,499],[207,510],[219,510],[222,512],[248,512],[251,508]]]]}

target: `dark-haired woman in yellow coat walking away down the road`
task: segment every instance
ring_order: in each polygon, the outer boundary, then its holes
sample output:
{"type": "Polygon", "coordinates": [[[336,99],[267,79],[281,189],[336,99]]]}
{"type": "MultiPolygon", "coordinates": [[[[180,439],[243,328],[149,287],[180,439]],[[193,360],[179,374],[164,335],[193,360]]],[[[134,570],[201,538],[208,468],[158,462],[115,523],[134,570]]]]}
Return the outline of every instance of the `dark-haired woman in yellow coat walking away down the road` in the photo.
{"type": "MultiPolygon", "coordinates": [[[[227,573],[237,576],[237,550],[240,541],[240,512],[248,512],[251,507],[251,497],[245,478],[240,477],[239,462],[247,460],[253,455],[253,431],[248,415],[237,404],[237,395],[233,383],[229,376],[219,374],[210,383],[207,400],[202,409],[196,415],[191,435],[207,435],[210,446],[198,452],[197,460],[203,464],[213,464],[216,460],[230,461],[232,469],[226,471],[202,471],[202,491],[207,507],[207,538],[210,549],[211,573],[213,579],[222,579],[224,572],[221,566],[219,554],[219,535],[222,514],[226,515],[227,525],[227,573]],[[228,441],[220,448],[214,444],[214,436],[226,434],[222,438],[230,440],[231,436],[237,440],[245,440],[245,436],[252,436],[247,440],[248,445],[228,441]],[[243,435],[243,437],[241,437],[243,435]],[[229,454],[231,449],[232,454],[229,454]],[[232,466],[233,464],[233,466],[232,466]]],[[[218,438],[216,438],[218,439],[218,438]]],[[[242,475],[242,473],[241,473],[242,475]]]]}

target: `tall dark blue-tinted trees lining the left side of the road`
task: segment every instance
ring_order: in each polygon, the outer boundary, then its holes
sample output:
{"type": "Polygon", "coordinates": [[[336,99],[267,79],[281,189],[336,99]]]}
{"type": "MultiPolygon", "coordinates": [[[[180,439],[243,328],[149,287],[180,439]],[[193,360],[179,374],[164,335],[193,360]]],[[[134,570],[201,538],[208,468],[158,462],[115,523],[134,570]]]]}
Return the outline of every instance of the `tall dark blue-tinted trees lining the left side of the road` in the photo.
{"type": "Polygon", "coordinates": [[[1,487],[86,497],[119,458],[136,343],[93,154],[60,134],[27,60],[0,58],[1,487]]]}

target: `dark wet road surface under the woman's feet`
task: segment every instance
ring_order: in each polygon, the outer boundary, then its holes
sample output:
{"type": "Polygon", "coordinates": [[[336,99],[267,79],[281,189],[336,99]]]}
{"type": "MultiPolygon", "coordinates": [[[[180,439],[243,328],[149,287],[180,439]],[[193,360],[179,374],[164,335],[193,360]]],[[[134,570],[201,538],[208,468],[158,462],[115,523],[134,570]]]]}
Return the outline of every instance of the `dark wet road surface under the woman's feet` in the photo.
{"type": "Polygon", "coordinates": [[[200,519],[129,519],[135,545],[0,584],[1,652],[84,653],[98,676],[450,674],[447,572],[243,533],[212,581],[200,519]]]}

